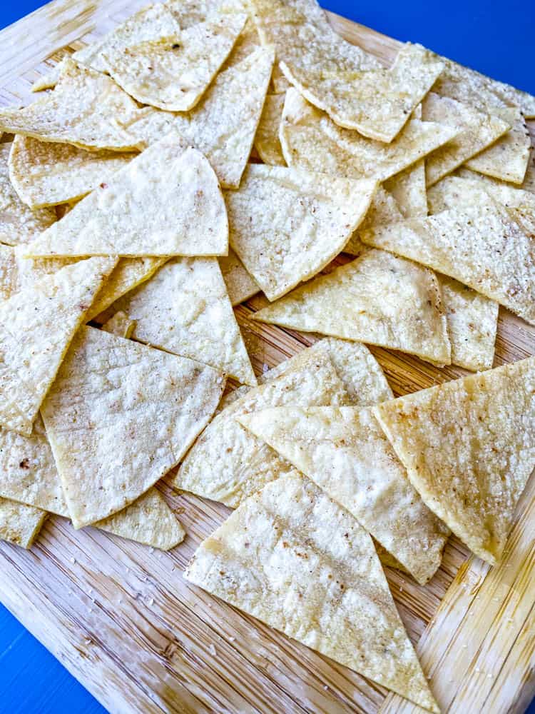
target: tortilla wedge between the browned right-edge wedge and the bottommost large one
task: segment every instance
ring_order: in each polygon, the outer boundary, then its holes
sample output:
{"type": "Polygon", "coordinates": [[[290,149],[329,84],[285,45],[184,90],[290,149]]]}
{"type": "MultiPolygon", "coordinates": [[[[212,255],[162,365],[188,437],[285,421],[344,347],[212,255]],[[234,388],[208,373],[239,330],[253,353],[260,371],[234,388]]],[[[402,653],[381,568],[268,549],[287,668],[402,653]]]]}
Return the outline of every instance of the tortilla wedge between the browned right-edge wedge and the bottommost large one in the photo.
{"type": "Polygon", "coordinates": [[[419,498],[371,410],[285,406],[237,419],[357,518],[424,585],[440,565],[449,530],[419,498]]]}

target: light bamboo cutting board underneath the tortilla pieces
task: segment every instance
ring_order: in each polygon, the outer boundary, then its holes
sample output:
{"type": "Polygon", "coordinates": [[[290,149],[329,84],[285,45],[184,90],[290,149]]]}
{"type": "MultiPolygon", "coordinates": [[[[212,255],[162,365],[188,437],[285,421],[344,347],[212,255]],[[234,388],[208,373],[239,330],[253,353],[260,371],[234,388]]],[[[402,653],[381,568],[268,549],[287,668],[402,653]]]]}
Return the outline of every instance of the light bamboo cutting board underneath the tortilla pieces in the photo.
{"type": "MultiPolygon", "coordinates": [[[[0,32],[0,104],[21,104],[62,54],[147,0],[55,0],[0,32]]],[[[398,44],[337,16],[335,29],[390,61],[398,44]]],[[[417,38],[415,38],[417,39],[417,38]]],[[[535,132],[534,132],[535,133],[535,132]]],[[[343,258],[340,258],[343,260],[343,258]]],[[[314,341],[236,308],[260,373],[314,341]]],[[[463,373],[373,349],[397,394],[463,373]]],[[[496,365],[535,353],[535,328],[500,309],[496,365]]],[[[414,713],[356,673],[188,585],[182,570],[229,511],[161,486],[188,538],[160,553],[50,518],[31,552],[0,544],[0,600],[113,714],[414,713]]],[[[402,618],[442,711],[521,713],[535,695],[535,477],[503,563],[489,569],[452,538],[424,588],[389,570],[402,618]]],[[[419,710],[422,712],[422,710],[419,710]]]]}

